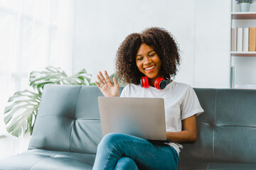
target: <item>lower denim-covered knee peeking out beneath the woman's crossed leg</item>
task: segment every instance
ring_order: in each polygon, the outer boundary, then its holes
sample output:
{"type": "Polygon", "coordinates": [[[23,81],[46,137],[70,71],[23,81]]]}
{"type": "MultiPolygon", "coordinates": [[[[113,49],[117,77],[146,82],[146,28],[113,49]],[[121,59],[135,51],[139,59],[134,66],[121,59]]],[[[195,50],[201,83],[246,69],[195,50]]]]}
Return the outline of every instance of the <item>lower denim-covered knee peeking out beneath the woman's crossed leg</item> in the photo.
{"type": "Polygon", "coordinates": [[[135,170],[138,169],[138,167],[133,159],[129,157],[122,157],[118,160],[117,165],[114,167],[114,169],[135,170]]]}

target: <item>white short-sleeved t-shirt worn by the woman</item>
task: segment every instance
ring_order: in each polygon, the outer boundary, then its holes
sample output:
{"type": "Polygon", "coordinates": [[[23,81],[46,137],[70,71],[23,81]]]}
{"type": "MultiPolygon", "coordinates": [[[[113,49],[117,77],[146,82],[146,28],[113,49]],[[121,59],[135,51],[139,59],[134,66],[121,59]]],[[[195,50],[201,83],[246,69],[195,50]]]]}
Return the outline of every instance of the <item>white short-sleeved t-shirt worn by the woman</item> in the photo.
{"type": "MultiPolygon", "coordinates": [[[[181,120],[203,113],[203,108],[201,108],[193,88],[188,84],[176,81],[171,81],[164,90],[152,86],[145,89],[140,85],[129,84],[124,87],[120,97],[164,98],[166,132],[181,131],[181,120]]],[[[182,148],[182,145],[174,142],[166,144],[174,147],[178,154],[180,152],[179,147],[182,148]]]]}

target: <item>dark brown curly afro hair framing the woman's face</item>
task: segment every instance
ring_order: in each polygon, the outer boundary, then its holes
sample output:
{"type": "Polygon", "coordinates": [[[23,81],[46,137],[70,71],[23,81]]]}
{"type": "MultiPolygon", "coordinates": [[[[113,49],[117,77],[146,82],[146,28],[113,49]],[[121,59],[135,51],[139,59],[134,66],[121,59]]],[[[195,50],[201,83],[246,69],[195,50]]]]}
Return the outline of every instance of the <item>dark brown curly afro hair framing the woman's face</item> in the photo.
{"type": "Polygon", "coordinates": [[[132,33],[119,46],[116,57],[117,76],[128,84],[140,84],[144,74],[136,64],[136,55],[140,45],[146,44],[155,50],[161,60],[161,69],[164,78],[176,76],[180,55],[178,45],[173,36],[164,28],[147,28],[142,33],[132,33]]]}

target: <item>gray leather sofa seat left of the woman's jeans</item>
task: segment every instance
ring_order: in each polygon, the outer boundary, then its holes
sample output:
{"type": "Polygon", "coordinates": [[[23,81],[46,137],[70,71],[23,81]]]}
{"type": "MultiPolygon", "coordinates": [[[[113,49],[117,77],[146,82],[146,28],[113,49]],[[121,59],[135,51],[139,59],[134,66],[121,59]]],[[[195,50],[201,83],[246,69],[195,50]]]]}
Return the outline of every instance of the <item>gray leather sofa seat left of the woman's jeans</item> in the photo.
{"type": "Polygon", "coordinates": [[[45,149],[30,149],[14,157],[1,159],[0,169],[63,170],[92,169],[95,154],[56,152],[45,149]]]}

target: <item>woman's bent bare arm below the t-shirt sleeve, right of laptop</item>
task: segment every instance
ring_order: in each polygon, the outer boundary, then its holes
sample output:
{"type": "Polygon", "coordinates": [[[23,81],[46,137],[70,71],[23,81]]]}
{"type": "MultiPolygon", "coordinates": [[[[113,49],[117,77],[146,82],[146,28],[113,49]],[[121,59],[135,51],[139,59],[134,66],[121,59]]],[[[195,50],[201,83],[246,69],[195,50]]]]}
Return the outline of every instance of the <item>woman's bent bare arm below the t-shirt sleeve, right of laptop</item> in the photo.
{"type": "Polygon", "coordinates": [[[196,141],[196,115],[182,120],[181,132],[166,132],[167,139],[176,143],[191,143],[196,141]]]}

